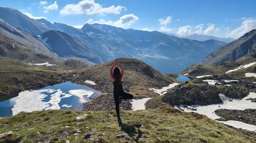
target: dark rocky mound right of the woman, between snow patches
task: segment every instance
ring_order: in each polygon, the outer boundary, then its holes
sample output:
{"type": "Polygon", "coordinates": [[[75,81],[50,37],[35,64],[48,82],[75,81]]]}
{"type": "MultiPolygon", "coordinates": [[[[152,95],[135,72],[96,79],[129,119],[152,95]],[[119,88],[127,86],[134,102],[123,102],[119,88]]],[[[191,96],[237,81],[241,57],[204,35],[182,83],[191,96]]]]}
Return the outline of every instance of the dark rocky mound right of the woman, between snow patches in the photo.
{"type": "MultiPolygon", "coordinates": [[[[153,107],[157,102],[164,102],[169,105],[209,105],[222,103],[219,94],[224,94],[230,98],[242,99],[248,95],[249,92],[256,92],[255,84],[251,79],[242,79],[239,82],[229,82],[230,86],[224,86],[226,83],[221,81],[222,77],[210,77],[210,80],[219,80],[216,85],[210,85],[206,79],[193,79],[183,82],[176,87],[170,89],[163,96],[157,99],[151,99],[146,103],[146,107],[153,107]]],[[[158,103],[159,104],[159,103],[158,103]]],[[[163,104],[164,105],[164,104],[163,104]]]]}

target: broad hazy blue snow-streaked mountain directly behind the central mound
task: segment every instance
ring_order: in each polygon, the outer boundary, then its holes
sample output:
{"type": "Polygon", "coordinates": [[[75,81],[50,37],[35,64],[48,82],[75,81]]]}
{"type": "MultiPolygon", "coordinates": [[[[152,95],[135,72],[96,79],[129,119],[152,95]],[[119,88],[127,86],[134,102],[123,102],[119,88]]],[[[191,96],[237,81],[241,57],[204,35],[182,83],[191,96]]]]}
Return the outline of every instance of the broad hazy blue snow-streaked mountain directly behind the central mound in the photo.
{"type": "MultiPolygon", "coordinates": [[[[94,39],[87,45],[98,45],[94,51],[105,51],[105,59],[131,57],[140,59],[161,72],[179,73],[187,66],[200,62],[208,53],[225,45],[216,40],[196,41],[133,29],[124,30],[104,24],[85,24],[81,30],[94,39]],[[111,53],[111,54],[110,54],[111,53]]],[[[103,54],[104,54],[103,53],[103,54]]]]}

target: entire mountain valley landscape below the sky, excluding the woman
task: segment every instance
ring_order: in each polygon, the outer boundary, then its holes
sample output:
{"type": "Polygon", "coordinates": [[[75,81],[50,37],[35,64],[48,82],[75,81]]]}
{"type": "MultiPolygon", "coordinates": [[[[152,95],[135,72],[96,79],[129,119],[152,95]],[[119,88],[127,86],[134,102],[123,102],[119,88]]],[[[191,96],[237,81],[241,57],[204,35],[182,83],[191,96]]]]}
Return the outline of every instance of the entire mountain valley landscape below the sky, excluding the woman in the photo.
{"type": "Polygon", "coordinates": [[[256,141],[256,30],[178,36],[0,12],[0,142],[256,141]],[[122,124],[116,58],[134,95],[122,124]]]}

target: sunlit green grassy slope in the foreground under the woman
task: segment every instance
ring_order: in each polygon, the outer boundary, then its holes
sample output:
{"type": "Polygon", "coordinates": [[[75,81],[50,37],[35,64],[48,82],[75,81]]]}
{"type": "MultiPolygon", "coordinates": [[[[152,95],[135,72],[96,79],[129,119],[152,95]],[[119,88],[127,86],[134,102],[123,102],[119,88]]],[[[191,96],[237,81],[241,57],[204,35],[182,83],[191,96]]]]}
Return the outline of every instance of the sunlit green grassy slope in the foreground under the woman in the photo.
{"type": "Polygon", "coordinates": [[[170,106],[121,111],[121,118],[123,125],[119,126],[115,111],[22,112],[0,119],[0,133],[14,132],[12,137],[0,139],[0,142],[93,142],[96,139],[101,142],[253,142],[237,130],[206,116],[180,112],[170,106]],[[89,115],[85,119],[76,120],[77,116],[86,113],[89,115]],[[74,135],[77,129],[81,132],[74,135]],[[60,138],[65,132],[68,132],[68,137],[60,138]],[[129,137],[116,137],[124,132],[128,133],[129,137]],[[86,133],[91,134],[91,140],[84,139],[86,133]]]}

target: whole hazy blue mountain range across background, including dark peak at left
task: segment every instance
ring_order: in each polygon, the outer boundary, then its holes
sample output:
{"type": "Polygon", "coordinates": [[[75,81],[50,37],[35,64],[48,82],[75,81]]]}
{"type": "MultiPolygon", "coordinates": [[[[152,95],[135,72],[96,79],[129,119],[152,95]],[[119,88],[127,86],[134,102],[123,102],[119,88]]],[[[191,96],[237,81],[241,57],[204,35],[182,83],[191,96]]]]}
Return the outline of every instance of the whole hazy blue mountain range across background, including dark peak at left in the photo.
{"type": "Polygon", "coordinates": [[[44,43],[44,47],[60,58],[73,56],[95,64],[118,57],[136,58],[161,72],[180,73],[226,44],[217,40],[178,38],[157,31],[125,30],[104,24],[85,24],[78,29],[62,23],[52,24],[45,19],[31,19],[11,8],[0,8],[0,12],[0,18],[18,30],[34,35],[33,40],[44,43]]]}

